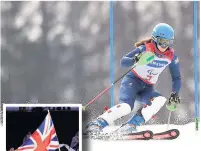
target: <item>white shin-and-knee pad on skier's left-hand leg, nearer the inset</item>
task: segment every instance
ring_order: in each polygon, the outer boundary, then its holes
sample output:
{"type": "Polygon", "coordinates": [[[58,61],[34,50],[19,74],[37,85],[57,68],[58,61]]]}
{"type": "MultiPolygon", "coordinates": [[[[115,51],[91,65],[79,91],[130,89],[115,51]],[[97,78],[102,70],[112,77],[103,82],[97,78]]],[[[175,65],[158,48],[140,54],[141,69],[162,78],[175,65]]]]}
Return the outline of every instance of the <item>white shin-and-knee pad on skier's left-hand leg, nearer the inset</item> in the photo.
{"type": "Polygon", "coordinates": [[[131,107],[127,103],[121,103],[113,106],[98,118],[104,119],[109,125],[112,125],[115,120],[131,113],[131,107]]]}

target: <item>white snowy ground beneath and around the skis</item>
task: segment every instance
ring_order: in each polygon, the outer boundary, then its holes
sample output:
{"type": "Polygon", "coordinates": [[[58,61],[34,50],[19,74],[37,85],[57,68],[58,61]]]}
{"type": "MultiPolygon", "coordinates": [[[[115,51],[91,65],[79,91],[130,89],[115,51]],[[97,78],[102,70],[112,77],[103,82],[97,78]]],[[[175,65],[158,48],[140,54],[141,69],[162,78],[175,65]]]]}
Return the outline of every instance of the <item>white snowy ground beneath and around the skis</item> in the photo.
{"type": "MultiPolygon", "coordinates": [[[[101,140],[83,140],[83,151],[186,151],[198,149],[201,147],[201,133],[195,131],[195,123],[186,125],[170,125],[169,129],[176,128],[180,131],[180,136],[175,140],[131,140],[131,141],[101,141],[101,140]]],[[[113,128],[105,131],[109,132],[113,128]]],[[[147,125],[139,130],[152,130],[153,132],[162,132],[167,130],[167,125],[147,125]]]]}

